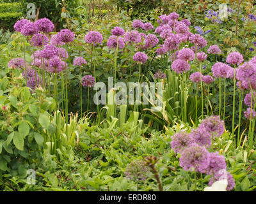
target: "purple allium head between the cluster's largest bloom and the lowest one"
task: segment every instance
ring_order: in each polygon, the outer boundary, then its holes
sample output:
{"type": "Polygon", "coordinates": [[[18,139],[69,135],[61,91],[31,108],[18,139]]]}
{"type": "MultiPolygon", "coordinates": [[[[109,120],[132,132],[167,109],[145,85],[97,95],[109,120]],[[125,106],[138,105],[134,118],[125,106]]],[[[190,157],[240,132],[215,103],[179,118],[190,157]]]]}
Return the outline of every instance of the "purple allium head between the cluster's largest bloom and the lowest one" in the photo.
{"type": "Polygon", "coordinates": [[[210,163],[207,168],[207,174],[215,174],[220,170],[226,170],[227,164],[225,157],[221,156],[218,152],[211,152],[209,159],[210,163]]]}

